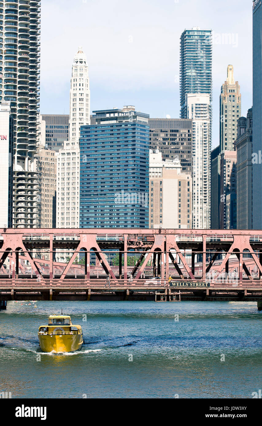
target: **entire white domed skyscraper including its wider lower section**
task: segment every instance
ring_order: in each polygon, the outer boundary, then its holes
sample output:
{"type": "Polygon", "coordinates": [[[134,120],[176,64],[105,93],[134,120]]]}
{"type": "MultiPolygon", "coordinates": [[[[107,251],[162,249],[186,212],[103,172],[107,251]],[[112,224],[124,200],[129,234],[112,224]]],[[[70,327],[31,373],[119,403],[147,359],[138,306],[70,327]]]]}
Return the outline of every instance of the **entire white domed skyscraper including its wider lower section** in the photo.
{"type": "Polygon", "coordinates": [[[79,227],[79,136],[80,126],[90,124],[88,66],[82,47],[72,65],[70,89],[69,141],[57,157],[56,226],[79,227]]]}

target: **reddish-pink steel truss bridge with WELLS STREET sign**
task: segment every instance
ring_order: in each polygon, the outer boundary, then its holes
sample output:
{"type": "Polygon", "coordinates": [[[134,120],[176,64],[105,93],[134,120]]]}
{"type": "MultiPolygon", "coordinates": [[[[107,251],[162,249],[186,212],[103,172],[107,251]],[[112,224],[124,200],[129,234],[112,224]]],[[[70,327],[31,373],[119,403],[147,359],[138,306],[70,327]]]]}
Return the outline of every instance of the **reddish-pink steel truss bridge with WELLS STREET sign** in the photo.
{"type": "Polygon", "coordinates": [[[0,299],[105,294],[262,300],[262,231],[0,229],[0,299]]]}

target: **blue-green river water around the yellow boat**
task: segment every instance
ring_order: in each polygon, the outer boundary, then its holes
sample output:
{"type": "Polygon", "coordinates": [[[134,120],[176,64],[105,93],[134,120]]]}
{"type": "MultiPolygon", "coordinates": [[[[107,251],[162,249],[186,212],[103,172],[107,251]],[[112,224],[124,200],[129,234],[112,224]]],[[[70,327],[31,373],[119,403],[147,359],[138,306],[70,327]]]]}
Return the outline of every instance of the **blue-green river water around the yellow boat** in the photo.
{"type": "Polygon", "coordinates": [[[12,398],[252,398],[262,389],[254,302],[20,303],[0,311],[0,392],[12,398]],[[38,327],[61,308],[85,345],[44,354],[38,327]]]}

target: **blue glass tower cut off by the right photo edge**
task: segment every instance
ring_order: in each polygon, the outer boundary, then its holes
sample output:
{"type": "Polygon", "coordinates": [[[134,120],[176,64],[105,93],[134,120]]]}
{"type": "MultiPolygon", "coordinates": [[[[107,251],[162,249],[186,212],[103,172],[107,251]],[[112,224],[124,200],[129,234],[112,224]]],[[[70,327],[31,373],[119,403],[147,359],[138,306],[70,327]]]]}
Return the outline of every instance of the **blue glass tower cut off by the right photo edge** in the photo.
{"type": "Polygon", "coordinates": [[[262,5],[253,2],[253,229],[262,229],[262,5]],[[259,160],[260,159],[260,160],[259,160]]]}

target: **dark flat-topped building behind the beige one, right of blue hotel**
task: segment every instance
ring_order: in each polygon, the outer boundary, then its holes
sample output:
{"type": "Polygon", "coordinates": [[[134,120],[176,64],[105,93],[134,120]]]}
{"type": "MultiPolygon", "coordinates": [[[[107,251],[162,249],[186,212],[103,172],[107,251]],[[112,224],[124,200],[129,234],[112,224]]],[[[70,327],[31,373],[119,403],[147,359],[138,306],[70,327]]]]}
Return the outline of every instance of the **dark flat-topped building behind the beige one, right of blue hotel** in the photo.
{"type": "Polygon", "coordinates": [[[149,147],[163,159],[180,162],[183,173],[192,172],[192,120],[149,118],[149,147]]]}

